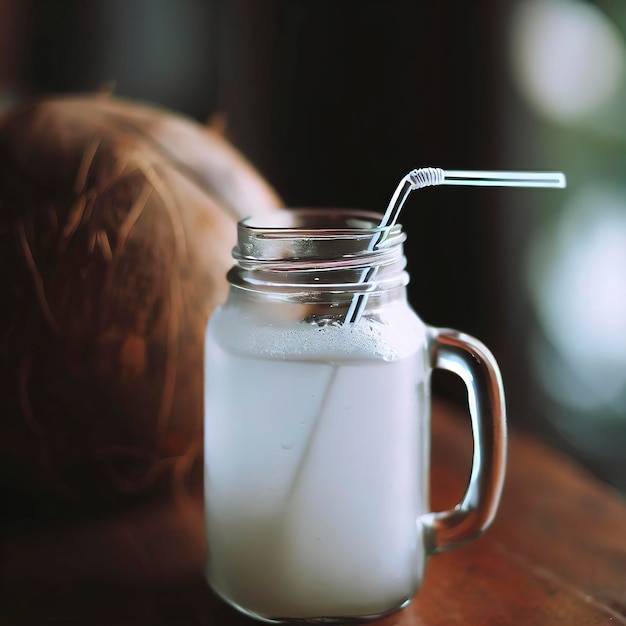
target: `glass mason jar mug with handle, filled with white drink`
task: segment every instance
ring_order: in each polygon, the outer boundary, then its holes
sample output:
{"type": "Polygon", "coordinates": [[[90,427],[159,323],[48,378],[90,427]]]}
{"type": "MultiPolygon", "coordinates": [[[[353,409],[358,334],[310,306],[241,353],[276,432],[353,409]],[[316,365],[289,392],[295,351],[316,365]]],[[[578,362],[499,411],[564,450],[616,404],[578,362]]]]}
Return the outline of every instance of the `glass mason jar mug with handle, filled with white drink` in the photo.
{"type": "Polygon", "coordinates": [[[407,303],[400,225],[293,210],[238,227],[205,353],[207,578],[264,621],[345,622],[406,606],[427,557],[479,535],[500,497],[505,417],[477,340],[407,303]],[[462,502],[429,508],[430,378],[468,389],[462,502]]]}

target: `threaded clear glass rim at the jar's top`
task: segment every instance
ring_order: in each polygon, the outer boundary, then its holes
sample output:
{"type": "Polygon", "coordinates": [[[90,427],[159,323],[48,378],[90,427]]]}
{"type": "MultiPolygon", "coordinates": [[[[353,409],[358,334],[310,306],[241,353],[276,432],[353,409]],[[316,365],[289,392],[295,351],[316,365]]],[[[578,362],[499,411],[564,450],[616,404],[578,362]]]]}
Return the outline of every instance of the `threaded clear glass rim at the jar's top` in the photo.
{"type": "Polygon", "coordinates": [[[381,228],[380,221],[379,213],[358,209],[284,209],[247,218],[238,224],[228,280],[298,299],[404,286],[406,235],[400,224],[381,228]]]}

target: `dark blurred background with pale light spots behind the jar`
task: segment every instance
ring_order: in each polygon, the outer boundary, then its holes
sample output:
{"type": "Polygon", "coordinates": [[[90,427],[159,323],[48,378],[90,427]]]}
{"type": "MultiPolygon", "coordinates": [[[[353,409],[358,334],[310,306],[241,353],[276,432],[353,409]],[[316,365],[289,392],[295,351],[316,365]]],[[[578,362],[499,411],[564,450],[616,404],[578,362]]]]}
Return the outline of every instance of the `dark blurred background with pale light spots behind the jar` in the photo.
{"type": "Polygon", "coordinates": [[[218,120],[289,206],[565,171],[413,194],[410,299],[492,349],[514,426],[626,491],[625,33],[621,0],[0,0],[0,110],[113,89],[218,120]]]}

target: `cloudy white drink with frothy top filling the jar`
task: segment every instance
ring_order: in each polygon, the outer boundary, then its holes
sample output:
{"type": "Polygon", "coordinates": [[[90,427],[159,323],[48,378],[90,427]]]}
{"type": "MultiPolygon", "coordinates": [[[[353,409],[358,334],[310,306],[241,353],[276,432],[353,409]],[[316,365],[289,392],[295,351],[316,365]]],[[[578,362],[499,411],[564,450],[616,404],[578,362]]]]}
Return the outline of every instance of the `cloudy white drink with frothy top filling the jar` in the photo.
{"type": "Polygon", "coordinates": [[[206,342],[212,587],[266,618],[376,615],[421,583],[424,329],[267,324],[218,311],[206,342]]]}

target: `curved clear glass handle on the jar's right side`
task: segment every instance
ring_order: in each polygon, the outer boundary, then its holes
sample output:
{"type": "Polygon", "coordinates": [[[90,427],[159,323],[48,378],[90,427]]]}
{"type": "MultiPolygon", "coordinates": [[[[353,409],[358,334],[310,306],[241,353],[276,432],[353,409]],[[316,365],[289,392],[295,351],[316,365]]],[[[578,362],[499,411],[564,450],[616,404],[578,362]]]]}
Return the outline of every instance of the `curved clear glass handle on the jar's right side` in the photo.
{"type": "Polygon", "coordinates": [[[460,376],[467,387],[474,438],[472,471],[461,502],[420,518],[426,549],[436,554],[475,539],[495,516],[506,464],[506,408],[500,369],[488,348],[455,330],[429,330],[433,367],[460,376]]]}

